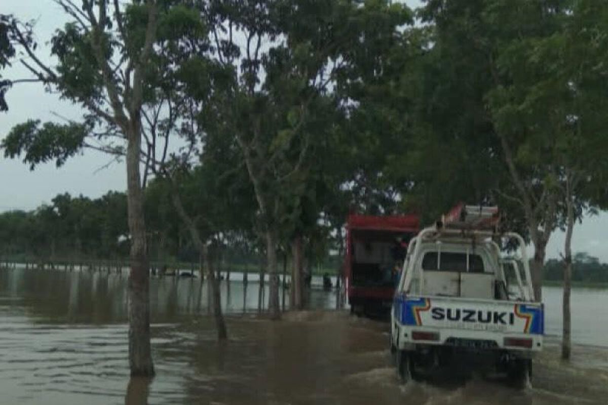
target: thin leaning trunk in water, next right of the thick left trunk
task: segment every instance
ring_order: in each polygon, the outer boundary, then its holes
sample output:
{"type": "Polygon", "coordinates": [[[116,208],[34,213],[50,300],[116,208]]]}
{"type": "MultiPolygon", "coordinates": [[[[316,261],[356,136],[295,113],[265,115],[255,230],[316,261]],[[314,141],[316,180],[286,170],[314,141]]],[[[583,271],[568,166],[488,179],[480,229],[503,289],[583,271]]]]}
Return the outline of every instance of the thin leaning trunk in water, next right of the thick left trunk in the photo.
{"type": "MultiPolygon", "coordinates": [[[[173,182],[172,179],[170,179],[173,182]]],[[[224,321],[224,315],[222,313],[221,306],[221,293],[219,292],[219,282],[213,271],[211,266],[211,260],[209,257],[209,247],[207,243],[204,243],[201,237],[201,234],[196,228],[196,224],[188,216],[186,213],[184,206],[182,205],[181,199],[179,198],[179,193],[176,189],[171,193],[171,198],[173,199],[173,205],[175,206],[176,211],[178,211],[179,217],[181,217],[184,224],[187,226],[188,231],[190,232],[190,237],[192,237],[192,242],[195,244],[199,253],[201,254],[204,263],[205,263],[205,272],[207,273],[207,282],[209,282],[210,287],[210,298],[211,298],[211,306],[213,311],[213,318],[215,319],[215,326],[218,331],[218,339],[225,340],[228,338],[228,333],[226,330],[226,321],[224,321]]]]}

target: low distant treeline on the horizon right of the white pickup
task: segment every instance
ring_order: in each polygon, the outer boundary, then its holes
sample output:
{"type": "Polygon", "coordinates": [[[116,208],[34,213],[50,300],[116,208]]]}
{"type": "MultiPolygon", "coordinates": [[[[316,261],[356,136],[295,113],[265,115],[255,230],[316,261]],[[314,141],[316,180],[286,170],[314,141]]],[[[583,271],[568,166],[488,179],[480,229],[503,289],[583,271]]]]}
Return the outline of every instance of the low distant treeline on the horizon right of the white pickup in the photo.
{"type": "MultiPolygon", "coordinates": [[[[562,281],[563,274],[562,260],[547,260],[544,268],[546,281],[562,281]]],[[[576,253],[572,258],[572,281],[587,284],[608,283],[608,264],[600,263],[597,257],[587,253],[576,253]]]]}

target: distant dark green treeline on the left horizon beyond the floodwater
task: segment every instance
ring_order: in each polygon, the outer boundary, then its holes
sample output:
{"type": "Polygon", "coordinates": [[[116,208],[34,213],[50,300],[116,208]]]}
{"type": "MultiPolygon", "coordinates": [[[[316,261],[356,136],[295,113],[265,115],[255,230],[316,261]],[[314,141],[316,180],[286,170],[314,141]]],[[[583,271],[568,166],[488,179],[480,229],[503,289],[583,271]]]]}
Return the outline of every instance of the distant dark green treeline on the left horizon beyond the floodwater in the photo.
{"type": "MultiPolygon", "coordinates": [[[[167,196],[158,188],[146,191],[148,253],[155,264],[198,263],[188,231],[175,216],[167,196]]],[[[111,191],[97,199],[58,194],[32,211],[0,213],[0,259],[128,260],[129,233],[126,195],[111,191]]],[[[249,271],[264,263],[264,252],[253,235],[226,231],[213,240],[215,259],[249,271]]],[[[340,259],[328,248],[309,251],[308,268],[336,273],[340,259]]],[[[283,251],[279,260],[283,262],[283,251]]]]}

